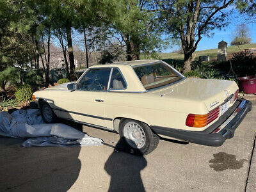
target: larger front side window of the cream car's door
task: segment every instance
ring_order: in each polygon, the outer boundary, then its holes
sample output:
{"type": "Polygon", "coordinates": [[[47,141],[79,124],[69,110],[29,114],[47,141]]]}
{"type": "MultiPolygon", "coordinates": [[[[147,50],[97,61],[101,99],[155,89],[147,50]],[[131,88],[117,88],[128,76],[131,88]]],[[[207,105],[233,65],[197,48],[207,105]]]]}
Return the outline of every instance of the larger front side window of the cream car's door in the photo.
{"type": "Polygon", "coordinates": [[[105,91],[108,88],[110,68],[92,68],[77,84],[77,90],[105,91]]]}

